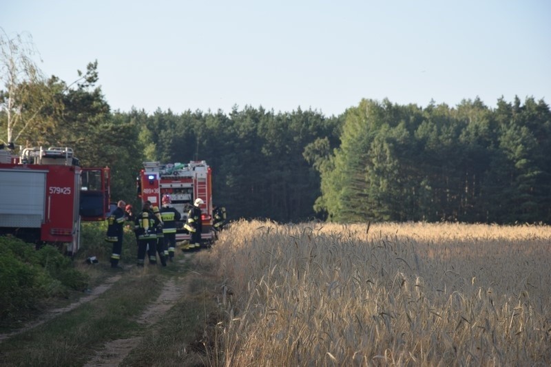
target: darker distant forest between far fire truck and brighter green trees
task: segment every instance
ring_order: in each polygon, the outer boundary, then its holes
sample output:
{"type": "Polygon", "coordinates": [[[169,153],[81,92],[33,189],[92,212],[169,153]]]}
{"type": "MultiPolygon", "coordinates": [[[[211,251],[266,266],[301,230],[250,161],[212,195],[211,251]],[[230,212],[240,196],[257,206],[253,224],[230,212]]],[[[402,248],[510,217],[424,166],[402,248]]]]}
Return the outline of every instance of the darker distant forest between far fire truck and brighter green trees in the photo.
{"type": "Polygon", "coordinates": [[[226,207],[230,218],[298,222],[320,216],[313,210],[320,173],[308,151],[320,137],[337,147],[340,118],[300,109],[276,114],[262,107],[235,107],[230,114],[115,116],[140,127],[145,160],[205,160],[213,170],[214,204],[226,207]]]}

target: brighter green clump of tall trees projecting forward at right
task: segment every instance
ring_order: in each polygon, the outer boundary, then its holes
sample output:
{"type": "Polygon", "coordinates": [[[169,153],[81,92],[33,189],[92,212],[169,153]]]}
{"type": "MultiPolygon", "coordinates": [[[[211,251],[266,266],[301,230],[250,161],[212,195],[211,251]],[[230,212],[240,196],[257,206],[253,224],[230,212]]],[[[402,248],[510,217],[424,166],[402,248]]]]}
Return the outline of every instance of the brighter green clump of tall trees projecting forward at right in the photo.
{"type": "Polygon", "coordinates": [[[337,221],[550,222],[551,112],[543,101],[457,109],[362,101],[320,165],[337,221]]]}

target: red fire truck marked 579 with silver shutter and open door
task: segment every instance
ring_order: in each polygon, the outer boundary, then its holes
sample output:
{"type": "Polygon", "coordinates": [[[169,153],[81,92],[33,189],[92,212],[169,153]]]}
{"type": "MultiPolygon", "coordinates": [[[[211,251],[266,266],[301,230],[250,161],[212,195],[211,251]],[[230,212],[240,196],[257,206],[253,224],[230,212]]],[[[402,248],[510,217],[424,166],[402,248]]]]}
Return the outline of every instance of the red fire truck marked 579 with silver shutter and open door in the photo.
{"type": "Polygon", "coordinates": [[[110,208],[110,169],[82,168],[68,147],[0,151],[0,234],[50,243],[74,255],[81,220],[104,220],[110,208]]]}

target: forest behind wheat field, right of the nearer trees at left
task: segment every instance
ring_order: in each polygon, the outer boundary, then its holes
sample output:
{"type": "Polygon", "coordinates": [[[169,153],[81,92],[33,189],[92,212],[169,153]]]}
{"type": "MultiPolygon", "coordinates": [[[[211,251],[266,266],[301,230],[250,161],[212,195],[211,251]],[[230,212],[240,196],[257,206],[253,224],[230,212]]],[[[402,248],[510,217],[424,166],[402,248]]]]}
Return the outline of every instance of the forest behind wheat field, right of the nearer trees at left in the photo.
{"type": "Polygon", "coordinates": [[[119,119],[140,126],[149,159],[207,160],[233,218],[551,222],[551,112],[534,98],[119,119]]]}

